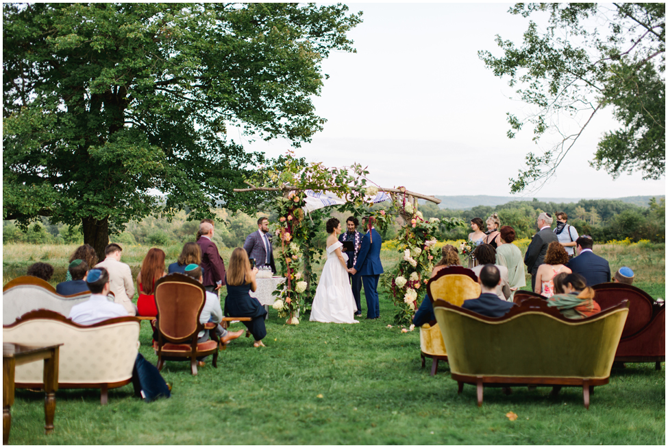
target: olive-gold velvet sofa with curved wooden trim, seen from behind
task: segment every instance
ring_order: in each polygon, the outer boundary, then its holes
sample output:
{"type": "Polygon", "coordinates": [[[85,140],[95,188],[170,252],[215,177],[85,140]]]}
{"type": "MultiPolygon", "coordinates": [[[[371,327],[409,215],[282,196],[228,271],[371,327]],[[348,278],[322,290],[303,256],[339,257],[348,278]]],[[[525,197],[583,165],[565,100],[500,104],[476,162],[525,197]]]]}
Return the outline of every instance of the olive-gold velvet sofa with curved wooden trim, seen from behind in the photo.
{"type": "Polygon", "coordinates": [[[436,300],[451,377],[475,384],[478,405],[484,386],[581,386],[589,409],[590,387],[608,384],[610,368],[628,316],[628,302],[588,318],[562,316],[532,298],[500,318],[488,318],[436,300]]]}

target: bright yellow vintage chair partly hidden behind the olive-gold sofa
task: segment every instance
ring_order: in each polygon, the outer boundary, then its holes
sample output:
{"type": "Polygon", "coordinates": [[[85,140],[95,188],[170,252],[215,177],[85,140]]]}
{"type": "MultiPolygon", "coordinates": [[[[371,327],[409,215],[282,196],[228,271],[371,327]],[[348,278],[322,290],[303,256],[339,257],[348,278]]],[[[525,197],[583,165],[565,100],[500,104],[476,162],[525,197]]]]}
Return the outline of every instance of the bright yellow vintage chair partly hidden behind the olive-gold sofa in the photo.
{"type": "MultiPolygon", "coordinates": [[[[462,266],[447,266],[441,268],[427,283],[428,300],[441,299],[460,307],[464,300],[480,296],[478,277],[472,270],[462,266]]],[[[432,377],[438,372],[438,361],[447,362],[447,352],[443,344],[441,329],[436,320],[420,327],[420,357],[422,367],[425,358],[432,358],[432,377]]]]}

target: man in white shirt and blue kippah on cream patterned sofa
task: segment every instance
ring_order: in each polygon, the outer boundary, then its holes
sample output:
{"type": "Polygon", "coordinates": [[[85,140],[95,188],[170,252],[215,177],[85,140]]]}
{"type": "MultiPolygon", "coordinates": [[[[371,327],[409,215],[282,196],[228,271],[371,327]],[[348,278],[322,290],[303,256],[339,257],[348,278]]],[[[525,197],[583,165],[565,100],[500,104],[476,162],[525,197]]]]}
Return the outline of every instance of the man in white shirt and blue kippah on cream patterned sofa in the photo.
{"type": "Polygon", "coordinates": [[[127,316],[123,305],[114,303],[107,297],[110,289],[109,273],[105,268],[93,268],[88,271],[86,285],[90,298],[86,302],[74,305],[68,318],[79,325],[93,325],[111,318],[127,316]]]}

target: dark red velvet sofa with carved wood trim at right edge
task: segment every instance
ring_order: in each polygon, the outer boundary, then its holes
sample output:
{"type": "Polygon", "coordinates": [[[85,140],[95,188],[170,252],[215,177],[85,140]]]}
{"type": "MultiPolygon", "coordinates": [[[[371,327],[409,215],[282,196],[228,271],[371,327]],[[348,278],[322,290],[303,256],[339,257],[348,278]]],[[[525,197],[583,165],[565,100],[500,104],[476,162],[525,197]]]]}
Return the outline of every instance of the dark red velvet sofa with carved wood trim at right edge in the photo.
{"type": "Polygon", "coordinates": [[[625,283],[601,283],[593,286],[594,300],[601,309],[628,300],[629,311],[621,340],[615,353],[617,362],[654,362],[660,370],[666,360],[666,307],[650,294],[625,283]]]}

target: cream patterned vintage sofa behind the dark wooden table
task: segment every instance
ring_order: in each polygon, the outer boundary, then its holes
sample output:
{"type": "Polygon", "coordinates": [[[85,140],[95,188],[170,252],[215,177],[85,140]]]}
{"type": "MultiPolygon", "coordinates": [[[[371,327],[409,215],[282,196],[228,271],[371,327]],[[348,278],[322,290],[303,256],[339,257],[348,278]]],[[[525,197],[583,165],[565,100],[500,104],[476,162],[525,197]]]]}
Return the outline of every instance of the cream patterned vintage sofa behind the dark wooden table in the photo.
{"type": "MultiPolygon", "coordinates": [[[[3,342],[27,345],[60,344],[58,388],[99,388],[100,402],[108,390],[132,381],[138,353],[139,320],[127,316],[95,325],[77,325],[54,311],[30,311],[11,325],[3,325],[3,342]]],[[[43,364],[16,367],[16,388],[42,388],[43,364]]]]}

